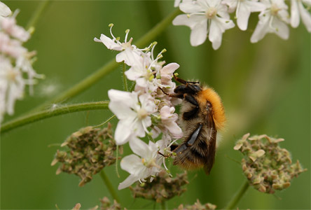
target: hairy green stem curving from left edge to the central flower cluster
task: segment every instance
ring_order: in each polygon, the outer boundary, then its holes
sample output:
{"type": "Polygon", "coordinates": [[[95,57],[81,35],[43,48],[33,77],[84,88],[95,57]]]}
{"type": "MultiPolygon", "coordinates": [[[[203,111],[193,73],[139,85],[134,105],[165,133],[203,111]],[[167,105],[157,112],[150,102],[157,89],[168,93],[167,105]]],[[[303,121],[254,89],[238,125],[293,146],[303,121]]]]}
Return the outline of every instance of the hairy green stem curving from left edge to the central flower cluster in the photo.
{"type": "Polygon", "coordinates": [[[1,126],[1,134],[13,130],[16,127],[21,127],[29,123],[34,123],[38,120],[43,120],[45,118],[50,118],[53,116],[60,116],[66,113],[72,113],[77,111],[88,111],[95,109],[108,109],[109,102],[90,102],[81,104],[71,104],[52,107],[51,109],[46,109],[44,111],[39,111],[36,113],[30,113],[26,116],[22,116],[15,120],[11,120],[8,123],[4,123],[1,126]]]}

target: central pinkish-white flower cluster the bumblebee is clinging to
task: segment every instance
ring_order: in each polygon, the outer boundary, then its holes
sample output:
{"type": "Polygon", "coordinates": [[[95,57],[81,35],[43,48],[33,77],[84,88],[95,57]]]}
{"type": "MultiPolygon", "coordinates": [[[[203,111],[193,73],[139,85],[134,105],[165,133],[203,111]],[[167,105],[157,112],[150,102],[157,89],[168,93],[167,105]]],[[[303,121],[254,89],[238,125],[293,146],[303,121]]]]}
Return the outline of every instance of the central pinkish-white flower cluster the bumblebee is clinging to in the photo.
{"type": "Polygon", "coordinates": [[[132,45],[132,38],[127,41],[130,30],[125,31],[125,41],[121,43],[112,34],[113,25],[109,27],[112,38],[102,34],[100,39],[94,40],[104,43],[110,50],[120,51],[116,55],[116,61],[125,62],[129,66],[125,76],[135,84],[132,92],[108,91],[109,109],[119,120],[115,132],[116,144],[129,142],[134,153],[120,162],[120,167],[130,173],[118,186],[120,190],[135,181],[142,183],[148,177],[152,180],[160,172],[162,164],[167,170],[165,159],[158,152],[170,152],[167,148],[172,140],[183,137],[181,128],[177,125],[177,113],[174,113],[174,105],[180,101],[167,96],[176,87],[172,77],[179,64],[170,63],[164,66],[165,62],[160,62],[159,59],[163,57],[165,50],[157,57],[153,56],[156,43],[139,49],[132,45]],[[152,140],[148,144],[139,139],[146,136],[152,140]],[[153,139],[160,140],[155,142],[153,139]]]}

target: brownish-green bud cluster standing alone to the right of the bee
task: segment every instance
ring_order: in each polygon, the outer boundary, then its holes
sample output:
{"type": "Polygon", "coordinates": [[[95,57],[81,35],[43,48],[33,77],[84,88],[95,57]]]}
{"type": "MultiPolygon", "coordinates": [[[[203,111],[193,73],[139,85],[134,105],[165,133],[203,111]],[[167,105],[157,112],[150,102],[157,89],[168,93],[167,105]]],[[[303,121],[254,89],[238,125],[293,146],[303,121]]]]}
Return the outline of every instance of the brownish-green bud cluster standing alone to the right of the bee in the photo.
{"type": "Polygon", "coordinates": [[[291,179],[306,169],[299,161],[291,162],[291,154],[279,147],[284,139],[274,139],[263,134],[249,137],[245,134],[234,149],[241,151],[242,169],[251,186],[262,193],[275,193],[291,186],[291,179]]]}

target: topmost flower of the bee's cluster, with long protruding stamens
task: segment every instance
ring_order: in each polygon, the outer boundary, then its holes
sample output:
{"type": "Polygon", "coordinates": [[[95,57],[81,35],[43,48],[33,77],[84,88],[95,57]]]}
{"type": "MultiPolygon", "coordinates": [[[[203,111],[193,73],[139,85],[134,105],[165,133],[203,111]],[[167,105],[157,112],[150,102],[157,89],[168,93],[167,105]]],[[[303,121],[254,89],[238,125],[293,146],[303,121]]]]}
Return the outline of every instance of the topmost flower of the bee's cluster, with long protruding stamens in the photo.
{"type": "Polygon", "coordinates": [[[109,25],[109,27],[112,39],[104,34],[101,34],[100,39],[94,38],[94,41],[103,43],[109,50],[121,51],[118,55],[116,55],[116,62],[124,61],[128,66],[137,64],[137,62],[141,59],[141,50],[137,49],[135,45],[132,45],[133,38],[130,38],[130,40],[127,41],[127,36],[130,33],[130,30],[127,29],[125,31],[125,40],[124,43],[121,43],[118,41],[118,38],[112,34],[113,24],[109,25]]]}

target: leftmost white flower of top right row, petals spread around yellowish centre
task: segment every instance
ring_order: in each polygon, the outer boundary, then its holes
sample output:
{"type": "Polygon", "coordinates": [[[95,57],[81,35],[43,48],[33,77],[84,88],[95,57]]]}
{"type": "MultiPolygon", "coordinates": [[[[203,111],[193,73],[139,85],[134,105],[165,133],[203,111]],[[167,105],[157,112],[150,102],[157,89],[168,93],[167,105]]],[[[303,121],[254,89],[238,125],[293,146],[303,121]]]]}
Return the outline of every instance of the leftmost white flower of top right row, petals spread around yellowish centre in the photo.
{"type": "Polygon", "coordinates": [[[178,15],[173,25],[191,28],[190,43],[198,46],[205,42],[207,34],[214,50],[221,45],[223,32],[235,26],[221,0],[183,1],[179,8],[188,15],[178,15]]]}

